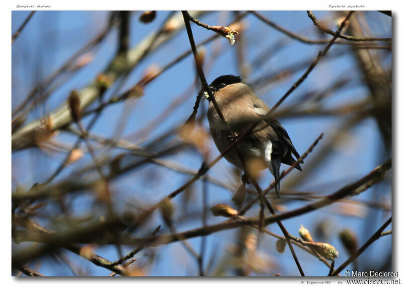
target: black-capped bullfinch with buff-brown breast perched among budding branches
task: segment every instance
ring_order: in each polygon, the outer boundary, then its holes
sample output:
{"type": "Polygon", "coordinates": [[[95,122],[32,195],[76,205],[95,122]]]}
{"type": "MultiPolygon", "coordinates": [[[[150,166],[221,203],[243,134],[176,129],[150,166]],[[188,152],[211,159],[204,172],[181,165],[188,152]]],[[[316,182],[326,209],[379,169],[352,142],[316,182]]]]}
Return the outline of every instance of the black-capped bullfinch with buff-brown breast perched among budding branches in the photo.
{"type": "MultiPolygon", "coordinates": [[[[252,162],[250,165],[254,169],[249,170],[248,166],[248,173],[244,170],[242,182],[250,183],[247,174],[268,168],[276,180],[276,194],[280,198],[280,181],[278,181],[280,165],[281,163],[292,165],[296,161],[293,155],[297,159],[300,157],[286,129],[277,120],[264,121],[263,117],[270,108],[254,94],[251,87],[242,82],[241,77],[220,76],[209,85],[209,88],[225,121],[221,119],[207,91],[204,92],[203,95],[210,101],[207,112],[210,133],[220,153],[223,153],[256,121],[263,120],[237,144],[244,162],[252,162]]],[[[224,158],[239,169],[244,169],[242,159],[235,148],[227,152],[224,158]]],[[[295,168],[302,171],[300,164],[296,164],[295,168]]]]}

